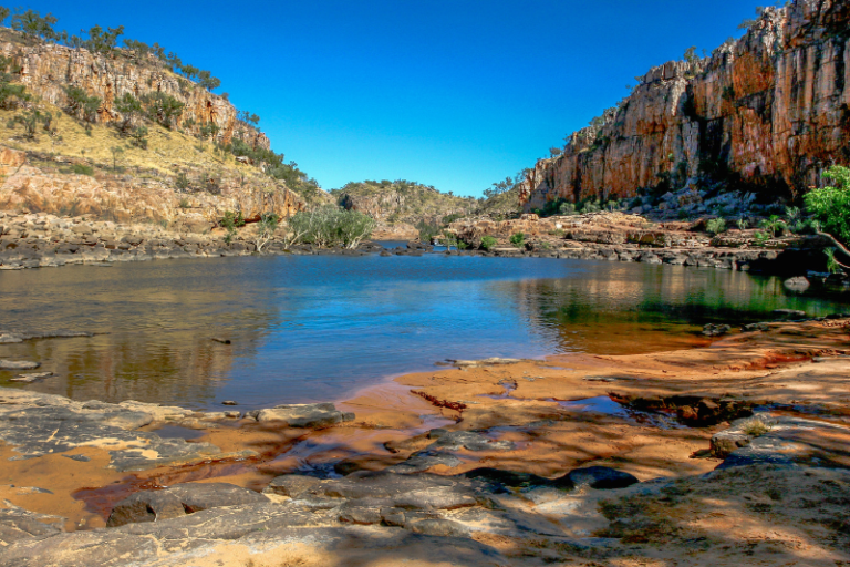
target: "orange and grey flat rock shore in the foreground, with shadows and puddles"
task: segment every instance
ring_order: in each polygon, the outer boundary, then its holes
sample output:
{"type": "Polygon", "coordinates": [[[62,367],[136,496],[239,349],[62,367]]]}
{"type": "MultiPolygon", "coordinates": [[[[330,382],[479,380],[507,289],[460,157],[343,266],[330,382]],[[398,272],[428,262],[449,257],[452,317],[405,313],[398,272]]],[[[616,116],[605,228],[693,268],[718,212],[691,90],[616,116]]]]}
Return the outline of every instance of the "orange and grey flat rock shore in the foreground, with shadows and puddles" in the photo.
{"type": "Polygon", "coordinates": [[[842,565],[849,332],[448,361],[249,414],[4,389],[0,565],[842,565]]]}

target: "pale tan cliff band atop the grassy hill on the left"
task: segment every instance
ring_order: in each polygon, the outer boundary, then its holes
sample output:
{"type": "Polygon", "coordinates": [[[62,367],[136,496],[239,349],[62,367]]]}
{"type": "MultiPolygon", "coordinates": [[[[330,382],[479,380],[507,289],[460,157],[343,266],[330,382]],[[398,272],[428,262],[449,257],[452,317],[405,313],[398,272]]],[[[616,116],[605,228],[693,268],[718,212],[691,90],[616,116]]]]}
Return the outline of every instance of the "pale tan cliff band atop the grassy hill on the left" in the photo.
{"type": "Polygon", "coordinates": [[[177,123],[194,121],[189,132],[197,133],[203,124],[212,122],[220,128],[218,138],[222,142],[240,138],[252,147],[270,147],[269,138],[240,121],[237,109],[226,99],[172,73],[154,59],[137,61],[124,52],[107,56],[51,43],[28,45],[10,30],[2,30],[0,54],[20,69],[15,81],[51,104],[66,106],[66,86],[79,86],[100,97],[99,122],[121,120],[114,102],[125,93],[142,97],[162,92],[185,105],[177,123]]]}

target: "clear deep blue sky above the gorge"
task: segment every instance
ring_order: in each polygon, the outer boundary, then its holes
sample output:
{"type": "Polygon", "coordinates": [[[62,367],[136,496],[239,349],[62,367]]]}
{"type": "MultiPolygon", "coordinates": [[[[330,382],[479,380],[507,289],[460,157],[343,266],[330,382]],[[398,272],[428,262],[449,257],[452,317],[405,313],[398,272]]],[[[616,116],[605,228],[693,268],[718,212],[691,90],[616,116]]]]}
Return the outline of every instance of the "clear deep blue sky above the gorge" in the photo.
{"type": "Polygon", "coordinates": [[[209,69],[325,189],[406,178],[479,196],[533,165],[650,66],[708,51],[756,1],[46,0],[209,69]]]}

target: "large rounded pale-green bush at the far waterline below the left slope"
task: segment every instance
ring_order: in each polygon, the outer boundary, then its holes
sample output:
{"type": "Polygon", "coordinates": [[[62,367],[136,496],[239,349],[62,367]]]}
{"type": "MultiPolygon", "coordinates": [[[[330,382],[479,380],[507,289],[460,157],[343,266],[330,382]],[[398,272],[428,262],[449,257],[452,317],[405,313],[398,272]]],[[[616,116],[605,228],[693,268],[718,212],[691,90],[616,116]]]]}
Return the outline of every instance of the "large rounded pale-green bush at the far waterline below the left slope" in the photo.
{"type": "Polygon", "coordinates": [[[296,213],[289,219],[289,245],[304,243],[321,247],[341,245],[356,248],[369,238],[375,228],[375,220],[356,210],[325,205],[311,210],[296,213]]]}

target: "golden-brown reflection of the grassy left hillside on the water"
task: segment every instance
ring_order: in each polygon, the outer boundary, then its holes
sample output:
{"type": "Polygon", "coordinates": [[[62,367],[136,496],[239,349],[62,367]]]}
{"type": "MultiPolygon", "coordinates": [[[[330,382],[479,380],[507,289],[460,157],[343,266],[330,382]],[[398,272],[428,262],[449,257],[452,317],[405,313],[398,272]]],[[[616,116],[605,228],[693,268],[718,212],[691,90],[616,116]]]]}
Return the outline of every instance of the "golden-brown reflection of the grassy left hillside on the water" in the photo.
{"type": "MultiPolygon", "coordinates": [[[[226,271],[219,281],[195,286],[190,262],[182,266],[188,277],[177,285],[170,281],[176,270],[157,277],[149,274],[156,265],[138,267],[144,270],[101,270],[87,280],[85,271],[91,275],[92,268],[63,268],[50,272],[46,285],[43,270],[7,278],[0,310],[11,316],[0,327],[99,334],[0,346],[0,358],[40,361],[39,371],[56,377],[27,388],[76,400],[211,401],[236,361],[255,358],[276,316],[226,271]],[[30,286],[27,276],[37,275],[41,280],[30,286]],[[14,317],[14,299],[23,295],[27,303],[21,305],[30,309],[14,317]],[[51,307],[32,309],[39,303],[51,307]],[[212,337],[230,338],[234,344],[212,337]]],[[[0,372],[0,379],[13,374],[0,372]]]]}

